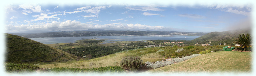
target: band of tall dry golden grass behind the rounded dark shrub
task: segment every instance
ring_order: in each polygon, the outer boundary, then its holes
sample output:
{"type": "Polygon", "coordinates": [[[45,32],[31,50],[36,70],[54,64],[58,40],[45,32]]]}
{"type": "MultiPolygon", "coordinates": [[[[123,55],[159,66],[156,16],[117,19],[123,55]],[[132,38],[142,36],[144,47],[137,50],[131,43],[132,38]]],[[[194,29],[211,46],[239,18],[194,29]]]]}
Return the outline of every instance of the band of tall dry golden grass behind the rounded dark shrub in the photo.
{"type": "MultiPolygon", "coordinates": [[[[94,68],[94,67],[105,67],[105,66],[120,66],[120,61],[123,57],[134,56],[133,53],[127,53],[127,51],[110,54],[104,57],[98,57],[90,60],[80,61],[68,61],[65,63],[52,63],[46,65],[39,65],[40,68],[54,68],[54,67],[66,67],[66,68],[94,68]]],[[[161,61],[161,55],[158,53],[149,53],[140,56],[143,63],[146,61],[161,61]]]]}

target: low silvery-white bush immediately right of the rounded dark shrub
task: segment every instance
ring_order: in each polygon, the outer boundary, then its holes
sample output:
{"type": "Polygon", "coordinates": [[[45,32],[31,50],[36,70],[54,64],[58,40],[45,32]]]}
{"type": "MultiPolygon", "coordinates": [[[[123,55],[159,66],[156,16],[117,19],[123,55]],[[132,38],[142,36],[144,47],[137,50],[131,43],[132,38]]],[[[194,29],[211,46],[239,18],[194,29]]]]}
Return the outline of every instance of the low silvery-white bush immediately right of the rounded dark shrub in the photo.
{"type": "MultiPolygon", "coordinates": [[[[146,63],[145,63],[146,64],[146,63]]],[[[146,67],[147,68],[153,68],[153,69],[156,69],[156,68],[159,68],[159,67],[163,67],[163,66],[166,66],[166,65],[171,65],[171,64],[174,64],[173,61],[156,61],[155,64],[150,64],[150,65],[147,65],[146,67]]]]}

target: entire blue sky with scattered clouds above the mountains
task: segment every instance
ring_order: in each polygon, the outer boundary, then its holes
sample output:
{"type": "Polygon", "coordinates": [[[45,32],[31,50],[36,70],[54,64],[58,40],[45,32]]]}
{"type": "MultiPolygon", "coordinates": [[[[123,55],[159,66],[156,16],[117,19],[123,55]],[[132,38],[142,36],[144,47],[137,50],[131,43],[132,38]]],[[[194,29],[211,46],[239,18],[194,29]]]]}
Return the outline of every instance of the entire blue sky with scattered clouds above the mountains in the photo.
{"type": "Polygon", "coordinates": [[[5,7],[4,29],[7,33],[87,29],[222,32],[250,25],[251,10],[252,4],[218,3],[193,6],[9,4],[5,7]]]}

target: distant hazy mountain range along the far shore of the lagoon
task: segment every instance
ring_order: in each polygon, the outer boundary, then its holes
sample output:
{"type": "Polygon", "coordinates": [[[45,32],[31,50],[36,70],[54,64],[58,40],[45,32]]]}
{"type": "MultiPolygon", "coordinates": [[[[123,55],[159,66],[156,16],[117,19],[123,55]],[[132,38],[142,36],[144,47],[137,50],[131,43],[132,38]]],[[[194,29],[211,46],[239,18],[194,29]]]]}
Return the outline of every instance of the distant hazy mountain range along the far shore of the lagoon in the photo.
{"type": "Polygon", "coordinates": [[[10,33],[26,38],[41,38],[41,37],[78,37],[78,36],[152,36],[152,35],[197,35],[202,36],[204,32],[175,32],[175,31],[111,31],[104,29],[89,29],[83,31],[68,31],[68,32],[46,32],[46,33],[10,33]]]}

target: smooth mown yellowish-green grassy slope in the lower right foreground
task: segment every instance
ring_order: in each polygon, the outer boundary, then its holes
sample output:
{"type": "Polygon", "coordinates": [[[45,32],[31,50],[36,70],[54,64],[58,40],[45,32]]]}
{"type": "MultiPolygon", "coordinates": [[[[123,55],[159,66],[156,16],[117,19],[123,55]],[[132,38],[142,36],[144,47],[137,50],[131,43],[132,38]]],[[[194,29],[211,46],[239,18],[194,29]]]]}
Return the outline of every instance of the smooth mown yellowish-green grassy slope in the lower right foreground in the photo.
{"type": "Polygon", "coordinates": [[[207,53],[149,72],[250,72],[251,52],[220,51],[207,53]]]}

